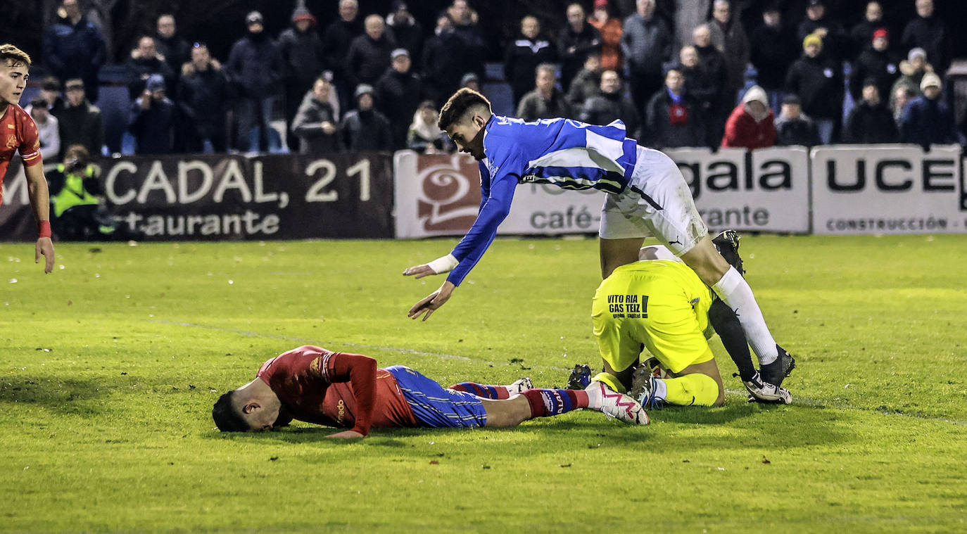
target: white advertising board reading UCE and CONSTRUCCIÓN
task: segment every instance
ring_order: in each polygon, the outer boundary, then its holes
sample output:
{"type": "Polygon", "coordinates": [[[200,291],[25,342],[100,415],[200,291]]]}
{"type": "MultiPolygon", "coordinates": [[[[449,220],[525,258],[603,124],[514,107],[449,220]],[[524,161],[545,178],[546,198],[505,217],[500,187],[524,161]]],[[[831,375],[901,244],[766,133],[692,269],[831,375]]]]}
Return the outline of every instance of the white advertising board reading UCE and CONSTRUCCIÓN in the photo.
{"type": "Polygon", "coordinates": [[[811,159],[815,234],[967,231],[959,146],[816,147],[811,159]]]}

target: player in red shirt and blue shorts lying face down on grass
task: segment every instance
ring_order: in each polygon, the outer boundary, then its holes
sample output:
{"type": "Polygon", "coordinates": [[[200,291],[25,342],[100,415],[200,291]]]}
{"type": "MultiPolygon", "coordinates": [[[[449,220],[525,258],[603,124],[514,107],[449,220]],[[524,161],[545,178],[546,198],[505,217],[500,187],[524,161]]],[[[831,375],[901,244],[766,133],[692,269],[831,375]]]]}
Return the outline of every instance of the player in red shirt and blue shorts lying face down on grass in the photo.
{"type": "Polygon", "coordinates": [[[293,419],[343,430],[328,437],[364,437],[370,428],[513,427],[535,417],[597,409],[647,425],[638,401],[601,382],[584,390],[530,389],[463,382],[444,389],[403,366],[377,369],[361,354],[304,345],[262,364],[254,380],[222,395],[212,418],[222,431],[272,430],[293,419]]]}

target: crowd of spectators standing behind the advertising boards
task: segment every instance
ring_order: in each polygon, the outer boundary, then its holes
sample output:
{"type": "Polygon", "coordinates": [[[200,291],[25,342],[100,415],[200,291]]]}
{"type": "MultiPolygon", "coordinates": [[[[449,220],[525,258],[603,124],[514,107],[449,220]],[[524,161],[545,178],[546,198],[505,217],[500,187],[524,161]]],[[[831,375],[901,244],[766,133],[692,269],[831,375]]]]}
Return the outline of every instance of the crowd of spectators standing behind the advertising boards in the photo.
{"type": "MultiPolygon", "coordinates": [[[[795,27],[782,4],[770,4],[750,31],[740,13],[747,3],[732,0],[696,0],[672,18],[656,0],[635,0],[630,13],[616,5],[629,2],[572,2],[563,27],[539,15],[519,20],[504,81],[518,117],[620,119],[658,148],[964,142],[944,97],[951,27],[933,0],[910,2],[917,16],[898,38],[875,0],[858,21],[807,0],[795,27]]],[[[424,31],[405,1],[386,16],[359,12],[357,0],[340,0],[322,28],[299,7],[276,37],[251,12],[223,63],[185,40],[174,16],[159,16],[124,66],[135,152],[452,151],[435,109],[487,80],[479,15],[454,0],[424,31]]],[[[44,36],[51,75],[30,105],[45,151],[102,152],[101,111],[91,103],[104,49],[78,0],[63,0],[44,36]]]]}

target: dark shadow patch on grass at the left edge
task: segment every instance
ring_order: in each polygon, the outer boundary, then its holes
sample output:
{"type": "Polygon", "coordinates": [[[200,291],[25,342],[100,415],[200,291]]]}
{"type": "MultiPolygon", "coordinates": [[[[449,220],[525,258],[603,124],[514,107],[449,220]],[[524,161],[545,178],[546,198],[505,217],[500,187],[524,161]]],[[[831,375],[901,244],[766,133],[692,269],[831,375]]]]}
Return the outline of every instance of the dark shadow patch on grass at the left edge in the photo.
{"type": "Polygon", "coordinates": [[[103,395],[104,384],[75,378],[4,376],[0,378],[0,402],[37,404],[64,412],[79,410],[75,401],[91,401],[103,395]]]}

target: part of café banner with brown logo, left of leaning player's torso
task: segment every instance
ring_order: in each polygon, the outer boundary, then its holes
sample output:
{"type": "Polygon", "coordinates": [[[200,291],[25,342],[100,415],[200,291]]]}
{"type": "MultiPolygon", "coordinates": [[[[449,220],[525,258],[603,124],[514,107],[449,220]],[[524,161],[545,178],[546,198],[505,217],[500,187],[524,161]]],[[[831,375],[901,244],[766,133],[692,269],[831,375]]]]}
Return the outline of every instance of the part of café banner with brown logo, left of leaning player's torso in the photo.
{"type": "MultiPolygon", "coordinates": [[[[396,237],[463,235],[477,219],[481,175],[467,155],[396,153],[396,237]]],[[[517,186],[501,234],[597,232],[604,194],[567,191],[547,184],[517,186]]]]}

